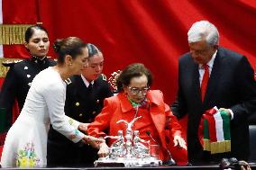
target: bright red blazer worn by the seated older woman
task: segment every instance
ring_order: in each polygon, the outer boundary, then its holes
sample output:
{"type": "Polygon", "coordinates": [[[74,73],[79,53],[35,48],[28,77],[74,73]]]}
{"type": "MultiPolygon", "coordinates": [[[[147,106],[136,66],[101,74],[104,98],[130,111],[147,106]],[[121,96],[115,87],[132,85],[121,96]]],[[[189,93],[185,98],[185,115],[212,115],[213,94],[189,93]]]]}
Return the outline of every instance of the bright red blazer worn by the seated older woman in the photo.
{"type": "MultiPolygon", "coordinates": [[[[161,142],[161,147],[165,149],[163,152],[164,158],[168,159],[169,155],[166,152],[166,129],[170,130],[172,137],[175,135],[181,136],[181,127],[178,124],[176,117],[170,112],[169,106],[163,101],[163,94],[159,90],[151,90],[147,93],[147,98],[150,104],[151,120],[158,131],[158,136],[161,142]],[[166,121],[169,123],[166,124],[166,121]]],[[[116,121],[119,121],[120,115],[134,113],[133,105],[128,101],[127,96],[123,93],[105,99],[104,108],[100,114],[96,116],[94,122],[88,126],[88,135],[95,137],[106,136],[104,130],[108,130],[110,136],[116,136],[117,131],[116,121]]],[[[133,118],[131,118],[133,119],[133,118]]],[[[173,139],[173,138],[170,138],[173,139]]]]}

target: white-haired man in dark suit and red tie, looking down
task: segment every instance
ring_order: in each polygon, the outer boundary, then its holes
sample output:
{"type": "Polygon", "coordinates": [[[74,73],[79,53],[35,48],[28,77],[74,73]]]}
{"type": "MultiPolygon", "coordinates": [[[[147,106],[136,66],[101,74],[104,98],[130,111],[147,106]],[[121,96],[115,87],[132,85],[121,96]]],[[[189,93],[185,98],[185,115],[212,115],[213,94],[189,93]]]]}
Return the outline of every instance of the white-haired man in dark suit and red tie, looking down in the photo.
{"type": "Polygon", "coordinates": [[[256,107],[253,69],[244,56],[218,46],[219,33],[210,22],[194,23],[187,36],[190,52],[178,60],[178,96],[171,110],[178,119],[187,114],[188,159],[192,164],[222,157],[247,160],[247,117],[256,107]],[[211,155],[203,151],[198,127],[202,114],[215,106],[230,114],[231,152],[211,155]]]}

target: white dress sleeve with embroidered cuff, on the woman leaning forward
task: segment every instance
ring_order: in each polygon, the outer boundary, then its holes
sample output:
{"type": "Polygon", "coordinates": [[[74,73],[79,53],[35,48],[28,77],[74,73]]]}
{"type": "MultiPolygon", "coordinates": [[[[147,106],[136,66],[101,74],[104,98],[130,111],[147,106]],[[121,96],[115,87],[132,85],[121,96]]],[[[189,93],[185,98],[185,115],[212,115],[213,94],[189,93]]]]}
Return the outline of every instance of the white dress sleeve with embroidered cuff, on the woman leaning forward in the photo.
{"type": "Polygon", "coordinates": [[[84,134],[78,130],[78,121],[65,116],[65,88],[59,85],[51,85],[44,89],[44,98],[50,114],[50,122],[54,130],[77,143],[84,138],[84,134]]]}

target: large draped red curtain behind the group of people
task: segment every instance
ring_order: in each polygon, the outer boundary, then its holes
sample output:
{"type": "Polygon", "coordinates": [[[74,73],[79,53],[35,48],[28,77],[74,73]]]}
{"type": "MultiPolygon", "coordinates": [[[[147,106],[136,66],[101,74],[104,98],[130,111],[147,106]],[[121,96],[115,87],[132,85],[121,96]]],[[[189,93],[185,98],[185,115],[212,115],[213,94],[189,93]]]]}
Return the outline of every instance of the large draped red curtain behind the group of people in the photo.
{"type": "MultiPolygon", "coordinates": [[[[178,57],[187,52],[187,30],[208,20],[220,44],[246,55],[256,67],[256,2],[253,0],[3,0],[4,23],[43,22],[50,40],[78,36],[105,55],[105,75],[142,62],[154,75],[153,88],[175,99],[178,57]],[[12,13],[10,9],[12,8],[12,13]]],[[[23,47],[5,46],[6,58],[25,58],[23,47]],[[21,55],[22,54],[22,55],[21,55]]],[[[50,56],[55,54],[50,49],[50,56]]]]}

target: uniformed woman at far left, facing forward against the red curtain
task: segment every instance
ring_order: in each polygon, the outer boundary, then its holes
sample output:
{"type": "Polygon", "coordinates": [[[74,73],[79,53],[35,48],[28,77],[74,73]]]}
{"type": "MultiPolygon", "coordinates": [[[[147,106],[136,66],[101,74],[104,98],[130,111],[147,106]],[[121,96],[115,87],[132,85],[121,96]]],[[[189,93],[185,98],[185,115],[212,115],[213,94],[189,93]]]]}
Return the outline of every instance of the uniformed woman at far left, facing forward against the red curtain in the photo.
{"type": "Polygon", "coordinates": [[[34,76],[41,70],[56,64],[54,60],[46,57],[49,45],[48,31],[41,25],[31,26],[25,31],[24,46],[30,52],[31,58],[10,67],[0,96],[0,108],[6,112],[7,130],[12,126],[15,100],[21,111],[34,76]]]}

